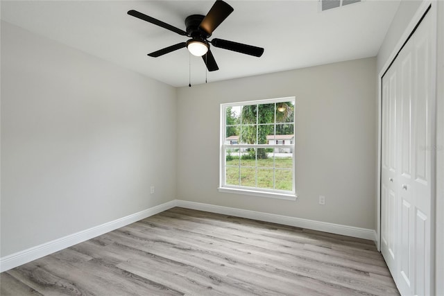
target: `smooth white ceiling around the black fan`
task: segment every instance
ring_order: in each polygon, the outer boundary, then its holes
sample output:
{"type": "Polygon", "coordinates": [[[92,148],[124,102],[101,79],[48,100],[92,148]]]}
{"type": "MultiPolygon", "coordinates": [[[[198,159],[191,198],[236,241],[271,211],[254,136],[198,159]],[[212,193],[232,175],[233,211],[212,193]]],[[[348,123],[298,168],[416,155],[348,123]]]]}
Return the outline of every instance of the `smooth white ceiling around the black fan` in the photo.
{"type": "MultiPolygon", "coordinates": [[[[1,19],[169,85],[253,76],[377,55],[400,0],[365,0],[320,11],[317,0],[226,0],[234,12],[212,37],[264,47],[255,58],[212,47],[219,71],[180,49],[148,57],[187,37],[127,15],[134,9],[185,30],[188,15],[214,1],[1,1],[1,19]]],[[[210,38],[211,40],[211,38],[210,38]]]]}

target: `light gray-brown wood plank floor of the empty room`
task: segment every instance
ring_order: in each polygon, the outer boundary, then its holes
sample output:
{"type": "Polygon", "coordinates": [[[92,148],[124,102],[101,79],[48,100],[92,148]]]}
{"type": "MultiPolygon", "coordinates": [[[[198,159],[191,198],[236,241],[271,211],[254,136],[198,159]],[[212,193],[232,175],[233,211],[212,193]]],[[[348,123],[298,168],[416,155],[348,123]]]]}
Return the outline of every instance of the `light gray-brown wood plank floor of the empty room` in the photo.
{"type": "Polygon", "coordinates": [[[178,207],[0,284],[1,295],[399,295],[372,241],[178,207]]]}

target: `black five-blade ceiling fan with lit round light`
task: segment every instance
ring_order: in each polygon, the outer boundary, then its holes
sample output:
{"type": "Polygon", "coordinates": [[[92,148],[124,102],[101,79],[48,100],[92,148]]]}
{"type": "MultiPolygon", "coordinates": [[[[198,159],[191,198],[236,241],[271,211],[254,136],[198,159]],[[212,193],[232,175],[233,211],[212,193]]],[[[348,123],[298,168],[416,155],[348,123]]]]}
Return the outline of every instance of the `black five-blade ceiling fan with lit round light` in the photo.
{"type": "Polygon", "coordinates": [[[153,53],[148,53],[149,56],[157,58],[166,53],[171,53],[172,51],[187,47],[191,54],[202,56],[203,62],[205,62],[208,71],[216,71],[219,70],[219,67],[217,66],[216,60],[214,60],[214,56],[210,51],[210,44],[212,44],[212,46],[214,47],[228,49],[229,51],[237,51],[238,53],[245,53],[247,55],[253,55],[255,57],[260,57],[262,53],[264,53],[264,49],[262,47],[242,44],[219,38],[208,40],[208,38],[211,37],[213,31],[222,23],[222,21],[224,21],[228,17],[228,15],[230,15],[231,12],[233,12],[233,10],[234,9],[228,3],[217,0],[213,4],[207,15],[190,15],[185,19],[185,26],[187,27],[187,31],[183,31],[180,28],[176,28],[175,26],[164,23],[163,21],[160,21],[153,17],[149,17],[148,15],[144,15],[142,12],[138,12],[136,10],[129,10],[128,15],[132,15],[133,17],[137,17],[138,19],[142,19],[144,21],[148,21],[149,23],[155,24],[157,26],[161,26],[162,28],[166,28],[169,31],[178,33],[179,35],[191,37],[191,39],[187,40],[187,42],[180,42],[178,44],[165,47],[164,49],[154,51],[153,53]]]}

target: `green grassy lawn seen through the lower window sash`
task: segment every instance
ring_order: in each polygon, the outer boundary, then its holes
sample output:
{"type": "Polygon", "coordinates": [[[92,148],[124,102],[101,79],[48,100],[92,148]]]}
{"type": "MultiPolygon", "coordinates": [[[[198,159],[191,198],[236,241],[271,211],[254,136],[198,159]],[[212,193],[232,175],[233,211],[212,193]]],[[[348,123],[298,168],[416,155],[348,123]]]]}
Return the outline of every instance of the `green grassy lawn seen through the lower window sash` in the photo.
{"type": "Polygon", "coordinates": [[[293,180],[292,168],[293,159],[291,157],[257,159],[257,169],[255,159],[239,160],[239,158],[234,158],[226,162],[225,182],[229,185],[291,191],[293,180]]]}

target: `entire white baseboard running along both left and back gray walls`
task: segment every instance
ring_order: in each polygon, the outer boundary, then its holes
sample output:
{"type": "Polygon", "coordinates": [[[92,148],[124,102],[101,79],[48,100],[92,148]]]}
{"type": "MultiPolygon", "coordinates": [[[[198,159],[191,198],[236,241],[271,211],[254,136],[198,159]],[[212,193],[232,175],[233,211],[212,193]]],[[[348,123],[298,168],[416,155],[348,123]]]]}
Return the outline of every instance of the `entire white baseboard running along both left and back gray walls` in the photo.
{"type": "Polygon", "coordinates": [[[91,238],[95,238],[96,236],[100,236],[107,232],[112,232],[115,229],[129,225],[131,223],[135,223],[144,218],[148,218],[149,216],[159,214],[162,211],[167,211],[167,209],[171,209],[173,207],[184,207],[187,209],[196,209],[199,211],[210,211],[217,214],[249,218],[265,222],[278,223],[282,225],[313,229],[321,232],[330,232],[332,234],[342,234],[345,236],[353,236],[357,238],[365,238],[368,240],[377,241],[377,235],[375,230],[373,229],[325,223],[316,220],[268,214],[259,211],[249,211],[246,209],[222,207],[214,204],[188,202],[186,200],[171,200],[170,202],[157,205],[144,211],[139,211],[138,213],[110,221],[103,225],[85,229],[81,232],[76,232],[75,234],[70,234],[68,236],[58,238],[54,241],[42,243],[41,245],[30,247],[29,249],[10,254],[8,256],[3,256],[0,258],[0,272],[10,270],[11,268],[15,268],[19,265],[31,262],[35,259],[39,259],[43,256],[52,254],[53,252],[58,252],[67,247],[82,243],[83,241],[87,241],[91,238]]]}

